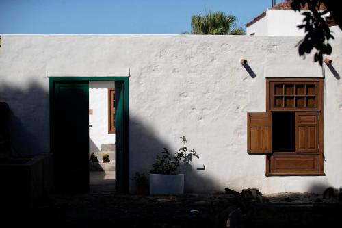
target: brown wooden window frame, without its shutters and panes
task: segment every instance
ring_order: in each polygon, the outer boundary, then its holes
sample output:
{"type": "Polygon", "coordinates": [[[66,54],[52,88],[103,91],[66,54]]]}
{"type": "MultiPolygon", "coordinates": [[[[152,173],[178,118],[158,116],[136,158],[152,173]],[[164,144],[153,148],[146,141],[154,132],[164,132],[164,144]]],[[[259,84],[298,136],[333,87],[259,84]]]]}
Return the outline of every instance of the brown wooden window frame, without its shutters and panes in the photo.
{"type": "MultiPolygon", "coordinates": [[[[285,87],[284,87],[285,88],[285,87]]],[[[284,89],[283,88],[283,89],[284,89]]],[[[294,86],[295,88],[295,86],[294,86]]],[[[306,87],[305,87],[306,89],[306,87]]],[[[295,92],[294,92],[295,93],[295,92]]],[[[285,90],[283,90],[285,95],[285,90]]],[[[294,96],[295,99],[295,96],[294,96]]],[[[324,174],[324,79],[323,78],[267,78],[266,79],[266,113],[272,118],[274,112],[295,112],[295,115],[317,115],[318,149],[307,152],[296,151],[298,142],[295,135],[295,151],[274,152],[266,157],[266,176],[310,176],[324,174]],[[274,107],[274,84],[315,85],[314,107],[274,107]]],[[[271,120],[272,121],[272,120],[271,120]]],[[[297,131],[297,121],[295,131],[297,131]]],[[[297,134],[297,133],[296,133],[297,134]]],[[[272,139],[271,139],[272,144],[272,139]]]]}

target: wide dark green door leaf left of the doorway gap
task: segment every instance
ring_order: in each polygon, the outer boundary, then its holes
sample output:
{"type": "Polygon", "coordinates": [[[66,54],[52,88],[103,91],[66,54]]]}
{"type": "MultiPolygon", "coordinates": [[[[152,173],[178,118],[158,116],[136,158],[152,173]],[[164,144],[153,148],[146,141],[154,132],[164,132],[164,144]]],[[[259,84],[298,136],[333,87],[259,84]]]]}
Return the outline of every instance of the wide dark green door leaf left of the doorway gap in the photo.
{"type": "Polygon", "coordinates": [[[51,114],[51,151],[57,192],[89,191],[89,84],[55,81],[51,114]]]}

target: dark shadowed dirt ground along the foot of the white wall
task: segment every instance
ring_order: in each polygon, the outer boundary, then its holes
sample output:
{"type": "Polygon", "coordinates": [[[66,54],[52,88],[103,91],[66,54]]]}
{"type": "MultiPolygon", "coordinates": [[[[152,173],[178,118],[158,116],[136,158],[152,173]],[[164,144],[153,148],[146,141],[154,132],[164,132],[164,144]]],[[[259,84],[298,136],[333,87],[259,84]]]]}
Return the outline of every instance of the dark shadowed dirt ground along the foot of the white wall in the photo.
{"type": "Polygon", "coordinates": [[[336,223],[342,227],[341,214],[342,203],[317,194],[269,194],[258,202],[219,192],[179,196],[54,195],[44,205],[16,210],[12,216],[17,224],[25,221],[25,227],[293,228],[331,227],[336,223]]]}

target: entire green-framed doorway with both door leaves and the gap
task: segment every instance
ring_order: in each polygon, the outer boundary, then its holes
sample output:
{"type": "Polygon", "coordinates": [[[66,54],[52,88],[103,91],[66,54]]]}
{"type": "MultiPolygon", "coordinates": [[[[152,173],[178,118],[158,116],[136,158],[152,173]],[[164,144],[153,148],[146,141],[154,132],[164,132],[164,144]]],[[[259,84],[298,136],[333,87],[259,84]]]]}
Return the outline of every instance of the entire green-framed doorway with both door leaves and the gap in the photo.
{"type": "MultiPolygon", "coordinates": [[[[97,183],[109,183],[109,186],[98,186],[95,191],[128,192],[128,88],[128,77],[50,77],[50,140],[56,192],[89,192],[96,179],[97,183]],[[115,122],[115,134],[102,141],[101,135],[100,140],[92,138],[94,132],[90,131],[93,125],[98,125],[90,116],[95,112],[108,112],[107,87],[104,110],[90,107],[93,99],[90,88],[96,87],[96,83],[101,85],[101,81],[108,81],[110,88],[115,90],[112,103],[115,117],[111,118],[115,122]],[[97,173],[98,177],[90,179],[90,153],[94,149],[100,153],[98,160],[103,160],[104,153],[107,153],[114,166],[109,165],[109,172],[97,173]]],[[[101,99],[95,100],[102,102],[101,99]]],[[[110,113],[102,118],[107,123],[107,133],[109,116],[110,113]]]]}

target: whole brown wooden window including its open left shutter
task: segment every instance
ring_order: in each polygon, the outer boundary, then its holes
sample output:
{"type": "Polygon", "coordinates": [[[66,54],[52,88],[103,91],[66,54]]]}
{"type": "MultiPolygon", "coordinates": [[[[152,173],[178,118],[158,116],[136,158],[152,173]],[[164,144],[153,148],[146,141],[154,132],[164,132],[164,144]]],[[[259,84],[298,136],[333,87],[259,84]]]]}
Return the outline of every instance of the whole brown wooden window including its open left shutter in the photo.
{"type": "Polygon", "coordinates": [[[248,113],[247,124],[248,153],[267,155],[266,175],[324,175],[323,83],[267,79],[267,112],[248,113]]]}

